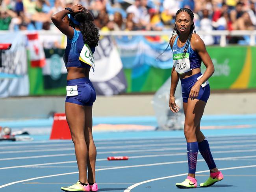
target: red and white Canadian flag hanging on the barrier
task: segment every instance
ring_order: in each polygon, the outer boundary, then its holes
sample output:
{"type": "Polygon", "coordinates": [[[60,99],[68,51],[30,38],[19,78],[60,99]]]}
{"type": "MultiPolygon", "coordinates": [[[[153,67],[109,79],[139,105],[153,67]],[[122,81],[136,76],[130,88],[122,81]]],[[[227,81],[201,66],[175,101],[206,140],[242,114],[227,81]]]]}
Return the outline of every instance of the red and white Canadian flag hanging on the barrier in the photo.
{"type": "Polygon", "coordinates": [[[30,51],[30,61],[32,67],[45,66],[45,52],[43,45],[38,39],[38,33],[27,34],[28,50],[30,51]]]}

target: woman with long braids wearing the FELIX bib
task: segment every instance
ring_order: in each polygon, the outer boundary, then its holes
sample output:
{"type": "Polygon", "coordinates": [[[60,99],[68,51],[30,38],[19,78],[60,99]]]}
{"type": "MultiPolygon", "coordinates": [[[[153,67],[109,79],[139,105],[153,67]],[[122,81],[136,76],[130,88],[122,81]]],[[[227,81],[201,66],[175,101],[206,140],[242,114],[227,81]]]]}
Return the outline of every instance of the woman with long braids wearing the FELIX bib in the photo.
{"type": "Polygon", "coordinates": [[[204,157],[209,169],[210,177],[200,186],[211,186],[223,179],[217,169],[208,141],[200,131],[200,120],[204,107],[210,96],[208,79],[214,72],[210,55],[202,39],[195,33],[194,14],[190,9],[179,9],[175,15],[175,28],[170,39],[173,51],[173,69],[171,72],[171,89],[169,107],[173,113],[178,113],[179,107],[175,103],[174,93],[180,79],[182,85],[183,108],[185,113],[184,135],[187,140],[188,176],[182,183],[176,183],[178,188],[196,188],[195,171],[198,149],[204,157]],[[174,33],[176,32],[176,35],[174,33]],[[194,32],[194,33],[193,33],[194,32]],[[206,71],[201,74],[201,62],[206,71]]]}

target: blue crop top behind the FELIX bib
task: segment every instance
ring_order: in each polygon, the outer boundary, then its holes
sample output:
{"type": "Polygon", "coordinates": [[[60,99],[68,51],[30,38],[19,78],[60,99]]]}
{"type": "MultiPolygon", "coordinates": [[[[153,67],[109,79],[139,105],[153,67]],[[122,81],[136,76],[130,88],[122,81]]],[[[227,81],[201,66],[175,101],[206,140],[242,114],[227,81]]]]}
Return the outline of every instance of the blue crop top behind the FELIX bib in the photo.
{"type": "MultiPolygon", "coordinates": [[[[176,54],[182,54],[184,49],[185,49],[185,45],[182,47],[178,47],[177,45],[177,41],[178,41],[178,35],[175,38],[175,41],[173,43],[173,59],[174,59],[174,55],[176,54]]],[[[202,63],[202,59],[201,57],[198,55],[197,52],[195,52],[189,43],[189,47],[187,48],[187,54],[189,54],[189,63],[190,63],[190,69],[195,69],[195,68],[200,68],[201,67],[201,63],[202,63]]],[[[181,66],[182,67],[182,66],[181,66]]]]}

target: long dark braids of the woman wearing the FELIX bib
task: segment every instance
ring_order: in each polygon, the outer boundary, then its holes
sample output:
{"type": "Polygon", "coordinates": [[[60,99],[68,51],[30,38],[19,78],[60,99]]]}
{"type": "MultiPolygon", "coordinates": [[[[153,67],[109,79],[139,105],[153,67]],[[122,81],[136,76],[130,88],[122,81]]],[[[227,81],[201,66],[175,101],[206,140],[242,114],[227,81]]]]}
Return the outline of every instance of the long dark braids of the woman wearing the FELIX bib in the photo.
{"type": "MultiPolygon", "coordinates": [[[[178,16],[178,14],[181,13],[181,12],[186,12],[186,13],[188,13],[188,14],[189,14],[189,17],[191,18],[191,20],[192,20],[192,22],[193,22],[193,20],[194,20],[194,13],[191,11],[191,9],[188,9],[188,8],[181,8],[181,9],[179,9],[179,10],[177,11],[177,13],[175,14],[175,20],[176,20],[176,17],[178,16]]],[[[176,32],[177,35],[180,34],[180,32],[177,30],[176,24],[175,24],[175,26],[174,26],[173,34],[172,34],[171,39],[173,38],[175,32],[176,32]]],[[[191,25],[191,28],[190,28],[190,31],[189,31],[189,36],[188,36],[188,38],[187,38],[187,42],[186,42],[186,45],[185,45],[185,48],[184,48],[184,51],[183,51],[183,54],[182,54],[182,59],[184,59],[185,56],[186,56],[187,49],[188,49],[188,47],[189,47],[189,44],[190,44],[190,41],[191,41],[191,37],[192,37],[192,33],[193,33],[193,32],[196,33],[194,22],[193,22],[193,24],[191,25]]],[[[174,40],[174,38],[172,39],[172,41],[169,42],[167,48],[166,48],[158,57],[160,57],[165,51],[167,51],[169,45],[171,46],[171,44],[173,43],[173,40],[174,40]]]]}

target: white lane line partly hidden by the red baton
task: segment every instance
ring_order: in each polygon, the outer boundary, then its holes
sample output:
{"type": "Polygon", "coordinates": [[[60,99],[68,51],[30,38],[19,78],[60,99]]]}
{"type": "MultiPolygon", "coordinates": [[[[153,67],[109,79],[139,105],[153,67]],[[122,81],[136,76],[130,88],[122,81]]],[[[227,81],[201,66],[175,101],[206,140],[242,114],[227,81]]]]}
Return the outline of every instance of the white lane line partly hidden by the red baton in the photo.
{"type": "MultiPolygon", "coordinates": [[[[145,155],[148,157],[148,155],[145,155]]],[[[132,156],[129,157],[130,159],[135,158],[145,158],[145,156],[132,156]]],[[[152,157],[152,156],[151,156],[152,157]]],[[[155,156],[159,157],[159,156],[155,156]]],[[[221,157],[221,158],[215,158],[214,160],[230,160],[230,159],[247,159],[247,158],[256,158],[256,155],[250,155],[250,156],[237,156],[237,157],[221,157]]],[[[106,158],[104,159],[96,159],[96,161],[107,161],[106,158]]],[[[199,161],[204,161],[204,159],[198,159],[199,161]]],[[[187,161],[175,161],[174,163],[182,163],[187,161]]],[[[29,165],[19,165],[19,166],[11,166],[11,167],[1,167],[0,170],[4,169],[14,169],[14,168],[26,168],[26,167],[35,167],[35,166],[45,166],[45,165],[54,165],[54,164],[67,164],[67,163],[76,163],[76,161],[62,161],[62,162],[50,162],[50,163],[41,163],[41,164],[29,164],[29,165]]],[[[173,162],[169,162],[170,164],[173,164],[173,162]]]]}

